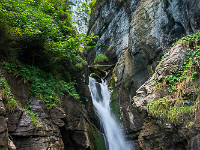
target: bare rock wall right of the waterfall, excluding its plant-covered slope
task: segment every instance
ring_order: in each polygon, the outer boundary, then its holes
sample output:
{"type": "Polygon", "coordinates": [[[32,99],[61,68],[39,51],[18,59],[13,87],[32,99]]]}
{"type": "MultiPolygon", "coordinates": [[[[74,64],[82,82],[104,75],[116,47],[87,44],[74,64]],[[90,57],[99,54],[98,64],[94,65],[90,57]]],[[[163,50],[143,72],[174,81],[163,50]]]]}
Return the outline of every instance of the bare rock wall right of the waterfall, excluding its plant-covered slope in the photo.
{"type": "MultiPolygon", "coordinates": [[[[88,34],[97,34],[101,45],[87,57],[92,62],[104,53],[111,64],[116,64],[108,79],[115,89],[112,102],[120,106],[128,137],[137,141],[135,149],[199,148],[198,120],[196,127],[185,129],[184,125],[163,122],[162,117],[155,119],[146,107],[161,98],[152,90],[155,82],[177,73],[186,61],[187,48],[181,44],[171,47],[177,39],[199,30],[199,7],[197,0],[112,0],[96,4],[88,34]],[[164,65],[157,66],[165,53],[164,65]]],[[[165,91],[164,96],[168,94],[165,91]]]]}

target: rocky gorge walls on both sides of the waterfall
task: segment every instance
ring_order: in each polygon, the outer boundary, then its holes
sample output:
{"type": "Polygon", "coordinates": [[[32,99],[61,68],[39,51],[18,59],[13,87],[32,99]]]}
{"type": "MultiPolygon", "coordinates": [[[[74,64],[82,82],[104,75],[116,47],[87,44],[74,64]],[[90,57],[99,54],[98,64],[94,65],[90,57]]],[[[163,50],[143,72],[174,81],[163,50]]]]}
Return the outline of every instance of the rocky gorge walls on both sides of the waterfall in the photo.
{"type": "MultiPolygon", "coordinates": [[[[176,42],[198,32],[199,10],[198,0],[96,1],[87,34],[97,35],[99,45],[85,55],[92,65],[95,57],[105,54],[106,64],[114,66],[107,70],[106,76],[113,91],[111,108],[135,150],[200,148],[200,39],[194,35],[176,42]],[[197,56],[191,54],[194,62],[190,62],[188,55],[193,49],[197,49],[197,56]],[[169,92],[174,87],[169,75],[176,76],[187,64],[190,74],[182,71],[188,77],[187,82],[176,83],[182,90],[169,92]],[[192,110],[189,108],[185,113],[176,109],[188,103],[192,110]],[[177,113],[172,111],[174,108],[177,113]],[[177,117],[171,119],[165,110],[177,117]]],[[[88,88],[91,69],[87,66],[84,69],[76,74],[76,88],[84,100],[65,95],[61,104],[47,109],[42,100],[29,94],[29,83],[1,67],[1,80],[6,80],[11,93],[5,95],[0,91],[0,149],[105,149],[88,88]],[[8,109],[6,99],[10,97],[21,105],[8,109]],[[24,109],[28,99],[31,99],[29,111],[24,109]]]]}

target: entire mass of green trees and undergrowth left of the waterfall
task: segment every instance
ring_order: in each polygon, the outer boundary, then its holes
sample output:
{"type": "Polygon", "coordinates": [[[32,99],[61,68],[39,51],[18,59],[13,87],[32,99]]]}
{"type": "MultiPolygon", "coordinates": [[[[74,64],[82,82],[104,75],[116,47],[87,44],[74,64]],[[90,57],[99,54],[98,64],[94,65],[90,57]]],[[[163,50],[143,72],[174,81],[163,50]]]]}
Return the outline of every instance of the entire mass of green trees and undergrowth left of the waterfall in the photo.
{"type": "Polygon", "coordinates": [[[64,94],[79,99],[75,85],[87,62],[84,49],[96,36],[78,34],[68,0],[2,0],[0,58],[3,67],[30,84],[30,96],[47,108],[64,94]]]}

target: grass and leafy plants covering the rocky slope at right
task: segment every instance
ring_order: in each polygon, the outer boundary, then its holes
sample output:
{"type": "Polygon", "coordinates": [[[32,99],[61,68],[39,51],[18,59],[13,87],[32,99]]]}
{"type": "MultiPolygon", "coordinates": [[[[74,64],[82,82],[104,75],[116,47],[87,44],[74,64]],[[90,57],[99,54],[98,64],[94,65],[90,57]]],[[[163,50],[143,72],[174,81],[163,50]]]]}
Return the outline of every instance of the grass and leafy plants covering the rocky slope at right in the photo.
{"type": "Polygon", "coordinates": [[[161,98],[147,104],[151,115],[174,124],[194,118],[200,102],[200,32],[183,37],[175,44],[179,42],[188,47],[187,61],[176,74],[156,83],[154,90],[162,93],[158,95],[161,98]]]}

